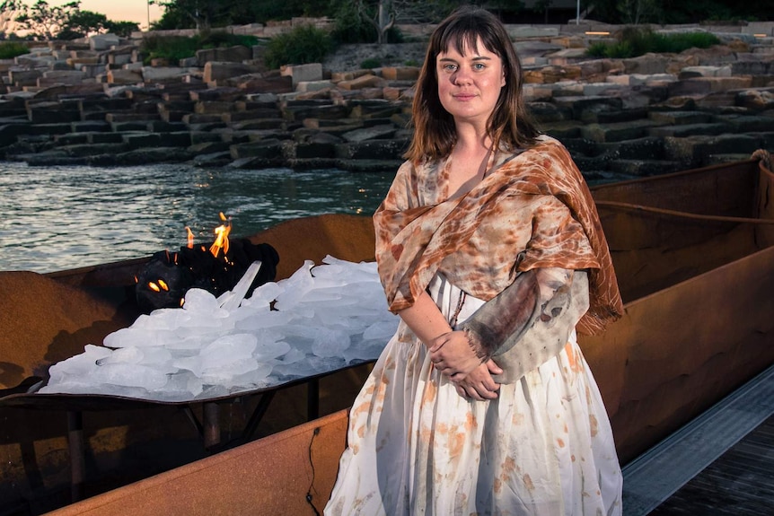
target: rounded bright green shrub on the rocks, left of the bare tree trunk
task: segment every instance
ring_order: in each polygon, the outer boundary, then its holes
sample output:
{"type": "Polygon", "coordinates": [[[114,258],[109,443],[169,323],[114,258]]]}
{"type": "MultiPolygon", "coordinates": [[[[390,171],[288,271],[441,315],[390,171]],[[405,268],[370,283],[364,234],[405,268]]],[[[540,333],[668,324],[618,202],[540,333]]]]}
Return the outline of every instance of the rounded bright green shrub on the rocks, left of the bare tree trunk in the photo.
{"type": "Polygon", "coordinates": [[[301,25],[269,40],[264,64],[276,69],[283,65],[320,63],[332,49],[333,40],[328,31],[301,25]]]}

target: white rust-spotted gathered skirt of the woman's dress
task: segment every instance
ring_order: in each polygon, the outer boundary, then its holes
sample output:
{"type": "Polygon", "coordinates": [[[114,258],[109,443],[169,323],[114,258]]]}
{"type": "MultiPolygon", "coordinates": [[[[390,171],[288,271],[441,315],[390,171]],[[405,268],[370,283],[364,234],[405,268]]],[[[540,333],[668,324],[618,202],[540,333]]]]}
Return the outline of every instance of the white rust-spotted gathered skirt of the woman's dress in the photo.
{"type": "MultiPolygon", "coordinates": [[[[460,290],[428,289],[447,318],[460,290]]],[[[462,322],[483,302],[468,295],[462,322]]],[[[495,400],[462,398],[400,322],[349,415],[328,516],[618,515],[610,422],[575,331],[495,400]]]]}

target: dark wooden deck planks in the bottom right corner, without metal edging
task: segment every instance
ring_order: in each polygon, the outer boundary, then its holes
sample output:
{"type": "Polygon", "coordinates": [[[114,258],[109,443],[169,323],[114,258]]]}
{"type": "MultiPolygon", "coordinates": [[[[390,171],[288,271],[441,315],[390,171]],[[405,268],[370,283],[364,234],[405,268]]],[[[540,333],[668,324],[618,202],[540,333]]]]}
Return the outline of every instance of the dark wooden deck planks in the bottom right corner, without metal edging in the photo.
{"type": "Polygon", "coordinates": [[[774,514],[774,415],[690,479],[649,516],[774,514]]]}

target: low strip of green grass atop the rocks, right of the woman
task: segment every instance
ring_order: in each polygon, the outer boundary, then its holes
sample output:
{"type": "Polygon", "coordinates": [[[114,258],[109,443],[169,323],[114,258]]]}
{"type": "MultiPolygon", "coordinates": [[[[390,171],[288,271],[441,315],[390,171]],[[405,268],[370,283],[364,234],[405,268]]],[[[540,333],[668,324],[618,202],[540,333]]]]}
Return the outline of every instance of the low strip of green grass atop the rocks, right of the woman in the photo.
{"type": "Polygon", "coordinates": [[[589,45],[586,55],[591,57],[626,58],[638,57],[649,52],[678,54],[688,48],[708,48],[720,43],[709,32],[680,32],[658,34],[650,30],[629,27],[621,31],[615,43],[597,42],[589,45]]]}

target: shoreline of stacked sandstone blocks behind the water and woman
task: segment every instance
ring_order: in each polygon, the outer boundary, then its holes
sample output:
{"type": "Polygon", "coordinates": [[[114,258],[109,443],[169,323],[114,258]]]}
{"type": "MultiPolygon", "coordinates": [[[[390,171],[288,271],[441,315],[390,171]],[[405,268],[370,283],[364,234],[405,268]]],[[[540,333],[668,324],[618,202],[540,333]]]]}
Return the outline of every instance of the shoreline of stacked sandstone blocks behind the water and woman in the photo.
{"type": "MultiPolygon", "coordinates": [[[[774,149],[774,23],[713,28],[723,45],[632,59],[585,57],[599,39],[586,34],[592,29],[509,26],[534,117],[588,179],[774,149]]],[[[144,66],[138,43],[54,41],[0,61],[0,159],[391,171],[409,143],[424,43],[345,47],[324,63],[279,71],[262,66],[260,47],[144,66]],[[364,56],[384,66],[352,67],[364,56]]]]}

